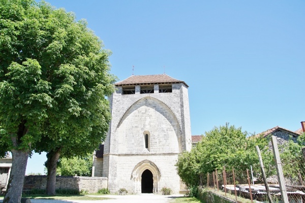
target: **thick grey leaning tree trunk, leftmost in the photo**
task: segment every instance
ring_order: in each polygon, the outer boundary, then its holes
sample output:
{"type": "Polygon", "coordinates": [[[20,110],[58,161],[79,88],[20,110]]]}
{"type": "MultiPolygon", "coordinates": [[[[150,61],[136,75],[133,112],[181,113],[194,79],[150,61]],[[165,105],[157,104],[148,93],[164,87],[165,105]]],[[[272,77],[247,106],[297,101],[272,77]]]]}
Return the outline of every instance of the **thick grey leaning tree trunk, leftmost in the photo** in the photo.
{"type": "Polygon", "coordinates": [[[4,203],[20,203],[28,152],[13,149],[12,156],[12,171],[8,183],[7,193],[3,200],[4,203]]]}

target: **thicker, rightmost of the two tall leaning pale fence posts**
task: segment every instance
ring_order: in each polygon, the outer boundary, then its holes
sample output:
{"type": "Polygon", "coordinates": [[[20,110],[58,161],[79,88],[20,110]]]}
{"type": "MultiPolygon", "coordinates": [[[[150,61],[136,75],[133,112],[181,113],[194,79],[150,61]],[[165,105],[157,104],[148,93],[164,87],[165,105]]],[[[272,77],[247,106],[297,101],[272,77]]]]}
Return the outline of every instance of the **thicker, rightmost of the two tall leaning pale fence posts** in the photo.
{"type": "Polygon", "coordinates": [[[272,144],[272,149],[273,149],[273,155],[275,156],[275,159],[276,159],[276,167],[277,167],[278,180],[279,180],[279,185],[280,185],[280,189],[281,189],[282,200],[284,201],[284,203],[289,203],[288,196],[287,196],[287,190],[286,190],[286,184],[285,184],[284,175],[283,175],[282,163],[281,163],[281,158],[280,158],[280,153],[279,153],[279,148],[278,148],[278,143],[277,143],[277,138],[275,136],[271,137],[271,144],[272,144]]]}

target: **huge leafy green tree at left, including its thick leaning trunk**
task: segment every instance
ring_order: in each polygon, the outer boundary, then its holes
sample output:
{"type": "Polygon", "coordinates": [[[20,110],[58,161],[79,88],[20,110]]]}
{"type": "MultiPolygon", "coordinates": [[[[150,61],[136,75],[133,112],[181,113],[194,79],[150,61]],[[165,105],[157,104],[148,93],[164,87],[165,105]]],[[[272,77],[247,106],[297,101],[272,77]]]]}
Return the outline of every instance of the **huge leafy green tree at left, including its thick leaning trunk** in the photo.
{"type": "Polygon", "coordinates": [[[45,2],[0,0],[0,144],[13,156],[4,202],[20,202],[33,150],[54,154],[63,149],[58,143],[89,146],[105,137],[105,95],[115,77],[102,47],[73,13],[45,2]]]}

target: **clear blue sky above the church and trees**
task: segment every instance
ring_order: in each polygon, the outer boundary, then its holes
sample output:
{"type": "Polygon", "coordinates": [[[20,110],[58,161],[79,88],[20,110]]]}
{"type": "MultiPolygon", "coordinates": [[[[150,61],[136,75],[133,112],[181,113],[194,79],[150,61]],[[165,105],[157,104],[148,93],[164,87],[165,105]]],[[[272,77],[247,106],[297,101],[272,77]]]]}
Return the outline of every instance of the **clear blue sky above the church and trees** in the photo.
{"type": "MultiPolygon", "coordinates": [[[[305,1],[47,1],[86,19],[111,73],[165,73],[189,87],[192,134],[250,133],[305,120],[305,1]]],[[[45,155],[27,171],[43,173],[45,155]]]]}

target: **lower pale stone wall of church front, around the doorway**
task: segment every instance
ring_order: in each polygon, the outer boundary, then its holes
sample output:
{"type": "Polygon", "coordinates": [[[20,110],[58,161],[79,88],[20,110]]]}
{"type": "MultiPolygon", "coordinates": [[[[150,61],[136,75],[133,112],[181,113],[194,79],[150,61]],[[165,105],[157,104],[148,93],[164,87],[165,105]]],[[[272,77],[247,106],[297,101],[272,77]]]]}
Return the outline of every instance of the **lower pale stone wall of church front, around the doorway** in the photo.
{"type": "Polygon", "coordinates": [[[172,190],[173,194],[178,194],[181,188],[175,166],[177,158],[178,154],[110,155],[110,163],[115,163],[116,167],[110,170],[109,189],[111,192],[117,192],[118,189],[125,188],[128,190],[128,194],[141,193],[139,185],[141,183],[141,168],[138,168],[137,165],[147,160],[156,164],[155,170],[150,170],[154,176],[154,188],[156,189],[154,192],[160,193],[163,187],[167,187],[172,190]],[[137,173],[137,171],[140,172],[137,173]]]}

